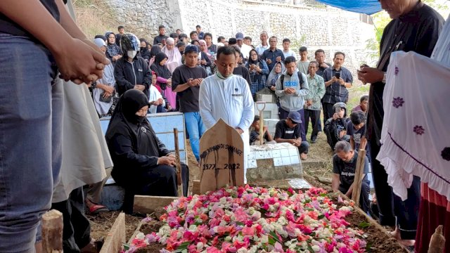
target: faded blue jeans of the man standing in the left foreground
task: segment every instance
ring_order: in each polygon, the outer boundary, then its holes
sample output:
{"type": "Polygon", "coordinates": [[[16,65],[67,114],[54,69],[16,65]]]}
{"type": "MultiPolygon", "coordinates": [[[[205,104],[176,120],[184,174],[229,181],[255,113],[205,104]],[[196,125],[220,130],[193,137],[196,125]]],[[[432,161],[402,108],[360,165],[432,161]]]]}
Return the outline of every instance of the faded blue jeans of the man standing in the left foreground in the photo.
{"type": "Polygon", "coordinates": [[[62,153],[63,83],[49,51],[0,34],[0,252],[34,252],[62,153]]]}

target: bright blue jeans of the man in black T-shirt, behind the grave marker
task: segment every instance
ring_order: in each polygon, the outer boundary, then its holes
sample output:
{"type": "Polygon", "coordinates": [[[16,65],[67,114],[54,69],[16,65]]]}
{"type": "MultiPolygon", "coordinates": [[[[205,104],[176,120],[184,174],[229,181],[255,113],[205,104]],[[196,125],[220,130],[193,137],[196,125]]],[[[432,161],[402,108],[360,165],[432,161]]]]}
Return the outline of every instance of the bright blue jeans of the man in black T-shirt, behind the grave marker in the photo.
{"type": "Polygon", "coordinates": [[[189,134],[189,142],[191,143],[192,152],[197,161],[200,160],[200,137],[205,133],[205,125],[203,124],[200,112],[184,112],[184,120],[186,122],[186,130],[189,134]]]}

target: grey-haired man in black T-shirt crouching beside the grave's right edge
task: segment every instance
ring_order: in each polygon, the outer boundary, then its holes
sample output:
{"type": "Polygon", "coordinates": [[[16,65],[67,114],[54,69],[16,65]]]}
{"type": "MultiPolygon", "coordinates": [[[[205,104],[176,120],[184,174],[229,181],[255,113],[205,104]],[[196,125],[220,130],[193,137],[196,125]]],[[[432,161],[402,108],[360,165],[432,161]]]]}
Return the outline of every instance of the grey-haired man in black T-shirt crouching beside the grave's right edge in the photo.
{"type": "MultiPolygon", "coordinates": [[[[333,156],[333,179],[331,180],[331,187],[333,188],[333,192],[337,193],[340,191],[351,198],[358,153],[352,149],[352,145],[347,141],[338,141],[335,145],[335,153],[336,154],[333,156]]],[[[364,157],[363,181],[361,183],[359,206],[366,213],[370,206],[368,195],[371,191],[367,174],[368,159],[367,157],[364,157]]]]}

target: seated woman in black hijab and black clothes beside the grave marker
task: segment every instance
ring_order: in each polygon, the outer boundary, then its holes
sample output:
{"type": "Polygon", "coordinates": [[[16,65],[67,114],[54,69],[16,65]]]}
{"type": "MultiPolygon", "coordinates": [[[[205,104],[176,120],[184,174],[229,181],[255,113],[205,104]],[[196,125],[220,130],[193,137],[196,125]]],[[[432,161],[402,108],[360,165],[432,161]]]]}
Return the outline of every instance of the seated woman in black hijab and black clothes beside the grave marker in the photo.
{"type": "MultiPolygon", "coordinates": [[[[133,210],[134,195],[177,196],[175,156],[156,136],[147,111],[148,98],[142,91],[125,91],[105,136],[114,162],[111,175],[125,189],[122,209],[127,214],[133,210]]],[[[181,174],[186,195],[186,165],[181,166],[181,174]]]]}

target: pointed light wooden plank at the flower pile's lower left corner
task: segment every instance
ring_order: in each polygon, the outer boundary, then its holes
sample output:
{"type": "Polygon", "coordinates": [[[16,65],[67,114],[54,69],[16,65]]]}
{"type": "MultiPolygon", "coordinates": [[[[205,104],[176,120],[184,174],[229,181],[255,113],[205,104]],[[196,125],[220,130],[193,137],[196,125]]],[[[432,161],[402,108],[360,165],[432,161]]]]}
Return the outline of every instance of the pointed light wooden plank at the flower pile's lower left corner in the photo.
{"type": "Polygon", "coordinates": [[[105,243],[101,247],[100,253],[117,253],[122,249],[122,245],[127,241],[125,238],[125,214],[120,213],[115,219],[113,227],[106,236],[105,243]]]}

